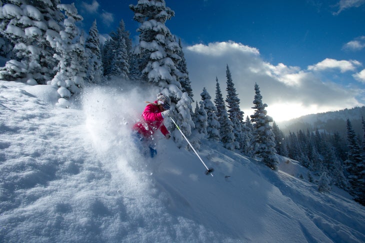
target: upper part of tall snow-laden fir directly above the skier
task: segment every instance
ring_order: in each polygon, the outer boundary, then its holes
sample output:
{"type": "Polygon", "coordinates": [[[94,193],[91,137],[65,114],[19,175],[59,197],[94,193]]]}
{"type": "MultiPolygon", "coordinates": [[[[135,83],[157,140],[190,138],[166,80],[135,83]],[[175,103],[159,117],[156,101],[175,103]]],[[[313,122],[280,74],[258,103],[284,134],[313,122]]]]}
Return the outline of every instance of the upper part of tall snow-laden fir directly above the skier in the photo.
{"type": "Polygon", "coordinates": [[[142,55],[145,63],[141,63],[143,79],[160,87],[178,82],[180,72],[176,64],[180,61],[178,43],[175,41],[165,22],[174,16],[174,11],[166,7],[164,0],[138,0],[136,5],[129,5],[134,12],[133,19],[141,23],[139,44],[135,52],[142,55]]]}

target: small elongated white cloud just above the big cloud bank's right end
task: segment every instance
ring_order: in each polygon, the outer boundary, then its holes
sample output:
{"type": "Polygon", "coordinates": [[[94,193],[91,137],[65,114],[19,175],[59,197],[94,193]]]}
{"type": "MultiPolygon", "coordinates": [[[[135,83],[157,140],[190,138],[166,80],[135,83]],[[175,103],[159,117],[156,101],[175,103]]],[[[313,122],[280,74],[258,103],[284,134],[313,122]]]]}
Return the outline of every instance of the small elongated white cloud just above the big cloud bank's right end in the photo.
{"type": "Polygon", "coordinates": [[[317,64],[308,66],[308,70],[321,71],[325,69],[338,68],[341,72],[353,71],[361,63],[357,60],[336,60],[331,58],[325,58],[317,64]]]}

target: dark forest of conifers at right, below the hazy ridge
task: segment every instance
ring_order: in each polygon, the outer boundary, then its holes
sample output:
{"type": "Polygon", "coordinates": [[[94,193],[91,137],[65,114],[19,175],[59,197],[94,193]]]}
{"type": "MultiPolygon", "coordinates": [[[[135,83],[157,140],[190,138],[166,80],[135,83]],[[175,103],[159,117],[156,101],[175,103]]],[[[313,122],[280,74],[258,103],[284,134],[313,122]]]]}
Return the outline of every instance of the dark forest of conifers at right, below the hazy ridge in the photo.
{"type": "MultiPolygon", "coordinates": [[[[347,135],[339,132],[328,133],[325,130],[299,130],[284,135],[276,123],[273,123],[276,151],[290,157],[308,168],[306,176],[310,182],[320,184],[323,190],[329,190],[334,184],[348,191],[355,200],[365,204],[365,139],[361,139],[347,119],[347,135]],[[319,176],[314,181],[313,175],[319,176]],[[323,184],[326,181],[325,184],[323,184]]],[[[362,137],[365,138],[365,122],[362,117],[362,137]]]]}

